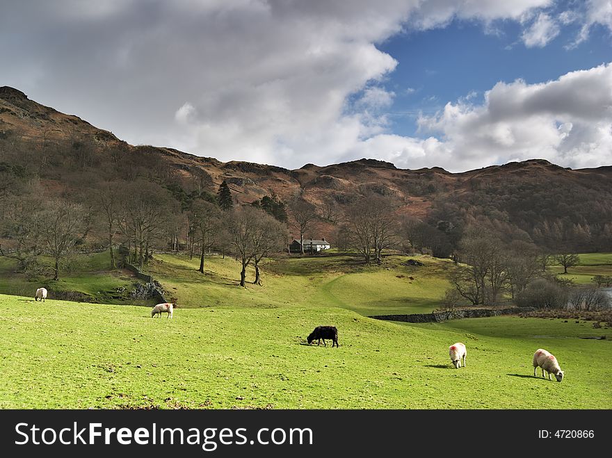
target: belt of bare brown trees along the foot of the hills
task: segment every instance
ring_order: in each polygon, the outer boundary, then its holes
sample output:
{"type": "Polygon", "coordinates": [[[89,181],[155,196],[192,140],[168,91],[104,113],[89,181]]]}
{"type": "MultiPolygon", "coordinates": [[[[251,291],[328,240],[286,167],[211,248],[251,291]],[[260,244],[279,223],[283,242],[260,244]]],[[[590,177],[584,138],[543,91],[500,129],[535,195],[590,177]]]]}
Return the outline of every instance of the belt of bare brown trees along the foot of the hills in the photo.
{"type": "MultiPolygon", "coordinates": [[[[433,202],[428,217],[419,219],[405,215],[404,202],[376,189],[343,195],[342,211],[339,196],[308,198],[303,190],[287,202],[272,193],[238,205],[227,182],[215,189],[211,177],[199,169],[191,170],[187,181],[179,179],[176,170],[163,166],[155,149],[138,156],[146,158],[143,163],[121,145],[96,154],[80,140],[69,146],[70,154],[64,156],[59,147],[42,147],[47,163],[60,161],[64,167],[51,167],[47,174],[61,169],[58,177],[65,178],[72,173],[70,185],[53,185],[61,189],[49,190],[52,181],[44,183],[41,171],[33,170],[31,162],[20,162],[19,154],[14,161],[0,163],[6,179],[6,186],[0,186],[0,251],[13,257],[19,270],[41,272],[44,254],[51,257],[57,279],[70,252],[103,248],[115,268],[120,257],[115,249],[121,246],[126,261],[139,268],[149,263],[154,251],[182,250],[200,257],[198,270],[203,274],[207,254],[218,251],[240,261],[242,286],[249,266],[255,270],[254,283],[260,284],[261,261],[289,250],[290,231],[304,254],[303,240],[325,224],[333,228],[328,236],[335,246],[361,256],[364,263],[383,263],[388,250],[453,259],[452,294],[483,304],[499,302],[504,293],[519,297],[553,260],[550,252],[536,247],[528,231],[504,222],[497,206],[487,215],[462,206],[459,218],[452,206],[433,202]],[[108,167],[100,167],[105,171],[100,176],[88,170],[101,164],[108,167]]],[[[508,205],[514,208],[512,202],[508,205]]],[[[567,272],[575,255],[562,243],[558,249],[555,259],[567,272]]]]}

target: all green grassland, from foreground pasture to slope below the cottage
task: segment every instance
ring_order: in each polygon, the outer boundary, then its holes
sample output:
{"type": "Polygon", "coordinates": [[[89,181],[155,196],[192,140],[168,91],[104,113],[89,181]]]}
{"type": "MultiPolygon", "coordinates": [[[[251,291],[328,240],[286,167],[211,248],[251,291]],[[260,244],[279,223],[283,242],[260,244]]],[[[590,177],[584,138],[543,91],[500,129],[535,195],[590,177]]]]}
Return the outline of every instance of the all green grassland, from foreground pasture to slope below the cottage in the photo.
{"type": "MultiPolygon", "coordinates": [[[[612,255],[581,255],[583,275],[612,255]],[[584,257],[582,257],[584,256],[584,257]]],[[[0,408],[611,409],[612,331],[590,322],[495,317],[406,324],[367,315],[428,312],[449,287],[450,261],[388,256],[268,260],[263,286],[240,288],[239,263],[158,254],[148,272],[181,308],[31,299],[38,283],[0,258],[3,336],[0,408]],[[339,348],[305,345],[317,325],[339,329],[339,348]],[[586,337],[601,337],[595,340],[586,337]],[[467,368],[448,347],[466,343],[467,368]],[[539,347],[558,357],[561,384],[533,377],[539,347]]],[[[82,256],[61,286],[104,297],[133,277],[82,256]]],[[[570,275],[577,275],[570,269],[570,275]]],[[[248,272],[252,279],[253,272],[248,272]]]]}

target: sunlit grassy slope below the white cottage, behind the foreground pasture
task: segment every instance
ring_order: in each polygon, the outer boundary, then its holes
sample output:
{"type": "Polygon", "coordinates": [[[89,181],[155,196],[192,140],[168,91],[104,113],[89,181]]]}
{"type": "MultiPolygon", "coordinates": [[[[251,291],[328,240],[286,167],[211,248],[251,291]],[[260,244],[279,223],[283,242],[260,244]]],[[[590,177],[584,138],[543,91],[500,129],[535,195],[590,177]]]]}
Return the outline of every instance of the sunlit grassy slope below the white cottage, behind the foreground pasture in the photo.
{"type": "Polygon", "coordinates": [[[240,265],[230,257],[208,257],[205,275],[197,271],[197,259],[155,257],[147,271],[188,307],[337,306],[363,315],[421,313],[435,309],[449,287],[444,279],[449,261],[429,256],[416,256],[424,267],[401,265],[408,256],[389,256],[383,268],[364,266],[350,256],[268,261],[263,286],[246,289],[236,286],[240,265]]]}

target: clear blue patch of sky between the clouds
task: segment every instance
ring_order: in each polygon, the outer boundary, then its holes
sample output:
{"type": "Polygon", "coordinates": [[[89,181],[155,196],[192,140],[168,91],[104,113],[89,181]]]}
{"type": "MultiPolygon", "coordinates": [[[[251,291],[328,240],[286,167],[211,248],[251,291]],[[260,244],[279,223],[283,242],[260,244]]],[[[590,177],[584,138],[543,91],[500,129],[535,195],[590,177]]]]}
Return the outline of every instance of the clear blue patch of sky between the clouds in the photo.
{"type": "Polygon", "coordinates": [[[544,83],[612,60],[612,38],[602,26],[572,49],[567,46],[579,33],[577,25],[563,28],[547,46],[531,48],[520,41],[517,22],[500,21],[494,28],[488,32],[481,22],[457,20],[444,28],[398,33],[378,44],[398,60],[382,84],[395,93],[389,108],[394,133],[413,136],[419,111],[435,113],[474,92],[474,101],[481,101],[498,81],[544,83]]]}

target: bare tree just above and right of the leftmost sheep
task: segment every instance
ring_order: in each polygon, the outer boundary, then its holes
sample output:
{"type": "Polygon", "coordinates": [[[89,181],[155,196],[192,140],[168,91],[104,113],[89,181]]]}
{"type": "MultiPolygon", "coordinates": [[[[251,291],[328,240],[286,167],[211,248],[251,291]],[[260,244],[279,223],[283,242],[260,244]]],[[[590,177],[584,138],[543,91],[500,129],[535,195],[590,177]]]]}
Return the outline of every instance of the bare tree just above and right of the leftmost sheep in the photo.
{"type": "Polygon", "coordinates": [[[83,208],[61,199],[45,202],[42,211],[42,234],[47,250],[54,259],[54,280],[58,279],[60,260],[80,239],[83,231],[83,208]]]}

